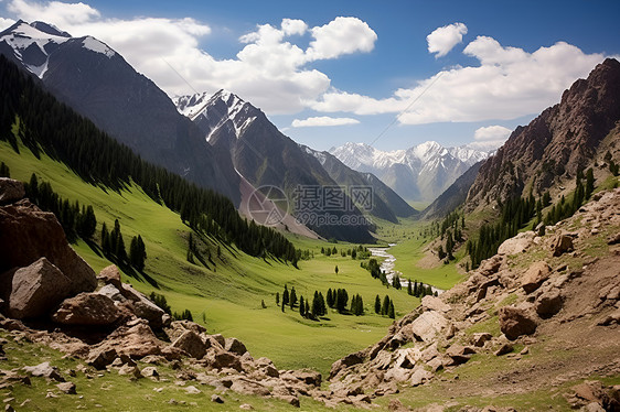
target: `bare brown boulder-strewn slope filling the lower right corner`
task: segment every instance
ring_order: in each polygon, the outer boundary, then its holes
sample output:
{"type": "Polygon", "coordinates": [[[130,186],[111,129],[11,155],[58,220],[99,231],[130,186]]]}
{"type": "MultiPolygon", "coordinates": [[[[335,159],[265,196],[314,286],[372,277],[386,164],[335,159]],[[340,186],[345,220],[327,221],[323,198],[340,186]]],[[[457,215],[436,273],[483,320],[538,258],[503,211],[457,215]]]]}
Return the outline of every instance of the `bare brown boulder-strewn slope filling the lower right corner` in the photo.
{"type": "MultiPolygon", "coordinates": [[[[426,296],[381,341],[334,362],[332,401],[420,384],[452,395],[527,393],[595,373],[618,376],[620,188],[595,195],[574,217],[546,229],[543,237],[526,232],[506,240],[502,253],[467,281],[440,297],[426,296]],[[563,248],[565,238],[573,249],[563,248]],[[549,355],[558,351],[560,358],[549,355]],[[489,362],[506,356],[511,364],[496,371],[490,366],[484,379],[447,382],[445,376],[457,376],[474,355],[489,362]]],[[[587,388],[566,398],[577,408],[620,408],[617,389],[600,387],[594,395],[587,388]]]]}

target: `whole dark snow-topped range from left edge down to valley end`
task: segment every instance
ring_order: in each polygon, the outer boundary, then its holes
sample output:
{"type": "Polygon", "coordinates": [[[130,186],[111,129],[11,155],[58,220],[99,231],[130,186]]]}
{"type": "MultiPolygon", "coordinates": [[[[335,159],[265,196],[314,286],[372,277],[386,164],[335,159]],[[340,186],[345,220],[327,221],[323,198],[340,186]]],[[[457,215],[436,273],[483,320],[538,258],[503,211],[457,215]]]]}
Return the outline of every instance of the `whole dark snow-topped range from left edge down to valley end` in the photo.
{"type": "MultiPolygon", "coordinates": [[[[397,221],[416,212],[378,180],[346,171],[338,161],[328,171],[310,150],[231,93],[173,102],[120,54],[92,36],[73,37],[51,24],[20,20],[0,33],[0,54],[143,159],[226,195],[242,212],[253,189],[264,185],[280,187],[292,198],[299,186],[364,182],[377,194],[374,207],[362,212],[354,206],[348,214],[397,221]],[[336,173],[340,169],[344,172],[336,173]]],[[[290,229],[290,224],[284,226],[290,229]]],[[[372,224],[310,227],[325,238],[373,241],[372,224]]]]}

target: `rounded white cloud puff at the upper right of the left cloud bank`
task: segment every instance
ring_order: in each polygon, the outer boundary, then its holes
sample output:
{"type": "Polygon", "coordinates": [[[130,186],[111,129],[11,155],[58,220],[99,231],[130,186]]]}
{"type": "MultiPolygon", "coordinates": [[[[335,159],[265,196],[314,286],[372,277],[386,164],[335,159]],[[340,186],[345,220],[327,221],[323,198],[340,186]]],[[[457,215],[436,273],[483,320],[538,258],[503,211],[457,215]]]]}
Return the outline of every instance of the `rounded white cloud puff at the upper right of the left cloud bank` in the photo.
{"type": "Polygon", "coordinates": [[[330,23],[311,29],[314,40],[307,51],[309,59],[335,58],[343,54],[371,52],[376,33],[357,18],[335,18],[330,23]]]}

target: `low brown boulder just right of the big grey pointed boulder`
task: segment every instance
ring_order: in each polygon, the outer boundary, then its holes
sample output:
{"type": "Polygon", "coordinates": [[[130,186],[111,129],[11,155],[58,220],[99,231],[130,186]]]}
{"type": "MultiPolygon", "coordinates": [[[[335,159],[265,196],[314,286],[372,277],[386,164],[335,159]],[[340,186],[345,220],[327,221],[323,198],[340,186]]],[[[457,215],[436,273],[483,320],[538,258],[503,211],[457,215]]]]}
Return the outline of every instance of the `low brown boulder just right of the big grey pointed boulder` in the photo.
{"type": "Polygon", "coordinates": [[[67,325],[111,325],[120,312],[108,296],[97,293],[81,293],[66,299],[52,315],[56,323],[67,325]]]}

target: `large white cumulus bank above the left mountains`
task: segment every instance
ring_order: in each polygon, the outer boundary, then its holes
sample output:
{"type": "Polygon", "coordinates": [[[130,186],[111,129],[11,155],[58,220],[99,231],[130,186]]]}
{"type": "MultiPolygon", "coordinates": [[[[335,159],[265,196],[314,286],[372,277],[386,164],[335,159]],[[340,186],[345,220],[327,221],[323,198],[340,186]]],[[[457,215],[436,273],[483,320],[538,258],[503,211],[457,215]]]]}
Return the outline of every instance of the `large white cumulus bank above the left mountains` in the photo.
{"type": "Polygon", "coordinates": [[[309,67],[311,62],[368,52],[376,40],[374,31],[355,18],[336,18],[311,29],[302,20],[284,19],[279,26],[258,25],[240,36],[234,58],[217,59],[199,45],[212,29],[190,18],[108,19],[85,3],[60,1],[11,0],[8,10],[15,18],[55,24],[74,36],[99,39],[170,96],[225,88],[269,115],[299,112],[329,89],[330,78],[309,67]],[[311,43],[306,50],[289,39],[307,33],[311,43]]]}

